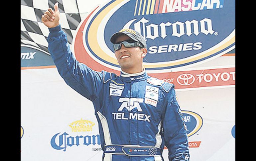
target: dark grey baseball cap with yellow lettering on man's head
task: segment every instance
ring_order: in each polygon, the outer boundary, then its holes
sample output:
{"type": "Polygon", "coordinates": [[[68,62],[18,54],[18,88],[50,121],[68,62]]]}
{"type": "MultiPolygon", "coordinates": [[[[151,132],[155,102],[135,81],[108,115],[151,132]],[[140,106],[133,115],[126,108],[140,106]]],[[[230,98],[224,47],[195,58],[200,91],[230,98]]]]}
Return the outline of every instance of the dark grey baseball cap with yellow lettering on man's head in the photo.
{"type": "Polygon", "coordinates": [[[146,40],[143,38],[143,36],[138,33],[137,31],[135,30],[132,30],[132,29],[122,29],[120,30],[119,32],[113,34],[110,38],[110,41],[112,43],[115,43],[116,42],[116,39],[121,36],[121,35],[127,35],[128,37],[130,37],[132,40],[134,41],[138,41],[140,42],[144,47],[147,47],[147,44],[146,44],[146,40]]]}

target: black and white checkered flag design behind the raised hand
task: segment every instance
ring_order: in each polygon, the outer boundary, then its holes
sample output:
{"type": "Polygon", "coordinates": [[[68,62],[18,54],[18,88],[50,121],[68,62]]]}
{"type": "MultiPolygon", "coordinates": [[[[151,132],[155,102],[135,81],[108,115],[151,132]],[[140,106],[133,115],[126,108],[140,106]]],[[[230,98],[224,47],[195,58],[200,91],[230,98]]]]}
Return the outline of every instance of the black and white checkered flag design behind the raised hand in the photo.
{"type": "Polygon", "coordinates": [[[60,24],[72,44],[75,30],[81,21],[77,0],[21,0],[21,44],[28,44],[48,51],[48,28],[41,16],[59,2],[60,24]]]}

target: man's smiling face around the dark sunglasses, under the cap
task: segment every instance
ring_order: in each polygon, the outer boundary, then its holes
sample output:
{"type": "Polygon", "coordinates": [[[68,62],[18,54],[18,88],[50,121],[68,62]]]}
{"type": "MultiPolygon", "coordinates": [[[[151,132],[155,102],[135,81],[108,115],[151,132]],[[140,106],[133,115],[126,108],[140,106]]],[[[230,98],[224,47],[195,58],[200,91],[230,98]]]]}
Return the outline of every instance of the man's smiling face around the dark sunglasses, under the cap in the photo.
{"type": "MultiPolygon", "coordinates": [[[[116,39],[116,43],[125,40],[131,40],[130,37],[126,35],[121,35],[116,39]]],[[[123,44],[121,48],[115,51],[116,59],[121,66],[122,70],[129,70],[133,68],[141,68],[143,63],[143,57],[146,56],[147,49],[140,47],[125,47],[123,44]],[[146,51],[145,51],[146,50],[146,51]]]]}

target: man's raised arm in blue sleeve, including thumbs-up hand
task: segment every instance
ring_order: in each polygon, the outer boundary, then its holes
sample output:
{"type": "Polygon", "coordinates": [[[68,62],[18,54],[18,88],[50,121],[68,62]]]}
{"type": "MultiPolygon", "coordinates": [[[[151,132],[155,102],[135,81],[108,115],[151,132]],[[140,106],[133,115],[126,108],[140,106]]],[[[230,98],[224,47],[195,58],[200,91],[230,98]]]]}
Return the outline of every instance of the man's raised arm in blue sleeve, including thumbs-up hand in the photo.
{"type": "Polygon", "coordinates": [[[49,43],[48,50],[64,81],[76,92],[94,101],[103,87],[103,75],[105,72],[93,71],[75,59],[70,50],[66,34],[59,23],[58,3],[54,5],[54,9],[53,11],[49,8],[42,15],[42,22],[50,31],[47,39],[49,43]]]}

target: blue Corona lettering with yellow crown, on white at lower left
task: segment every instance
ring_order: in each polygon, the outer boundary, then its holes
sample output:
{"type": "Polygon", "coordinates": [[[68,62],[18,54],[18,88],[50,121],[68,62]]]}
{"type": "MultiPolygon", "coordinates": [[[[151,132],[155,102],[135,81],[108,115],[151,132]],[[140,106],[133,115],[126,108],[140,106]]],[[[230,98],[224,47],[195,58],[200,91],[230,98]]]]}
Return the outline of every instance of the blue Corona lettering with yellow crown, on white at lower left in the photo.
{"type": "MultiPolygon", "coordinates": [[[[80,132],[80,131],[91,131],[92,126],[94,126],[95,123],[87,120],[79,120],[79,121],[74,121],[69,124],[69,126],[72,128],[72,132],[80,132]]],[[[98,144],[100,145],[100,136],[99,134],[97,135],[76,135],[76,136],[70,136],[68,133],[64,132],[61,134],[61,132],[56,133],[52,139],[51,139],[51,146],[56,149],[56,150],[62,150],[66,151],[66,148],[69,146],[73,145],[95,145],[98,144]]]]}

